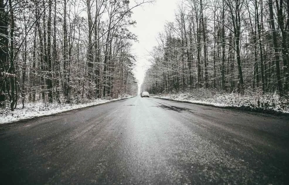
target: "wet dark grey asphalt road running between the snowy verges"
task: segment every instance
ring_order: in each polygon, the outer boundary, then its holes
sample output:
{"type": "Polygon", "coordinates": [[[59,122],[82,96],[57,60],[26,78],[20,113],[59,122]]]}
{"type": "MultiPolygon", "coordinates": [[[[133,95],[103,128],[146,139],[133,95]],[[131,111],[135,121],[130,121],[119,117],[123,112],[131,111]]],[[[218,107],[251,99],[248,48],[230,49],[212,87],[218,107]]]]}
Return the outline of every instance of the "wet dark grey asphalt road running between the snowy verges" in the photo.
{"type": "Polygon", "coordinates": [[[289,119],[133,97],[0,126],[3,184],[289,184],[289,119]]]}

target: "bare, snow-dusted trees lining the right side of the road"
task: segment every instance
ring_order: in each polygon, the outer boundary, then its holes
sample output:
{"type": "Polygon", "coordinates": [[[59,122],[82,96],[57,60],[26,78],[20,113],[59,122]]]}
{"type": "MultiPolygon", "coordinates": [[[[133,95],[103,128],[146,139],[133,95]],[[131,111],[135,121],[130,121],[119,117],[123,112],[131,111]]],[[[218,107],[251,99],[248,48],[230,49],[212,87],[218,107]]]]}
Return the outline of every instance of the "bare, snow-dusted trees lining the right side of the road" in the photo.
{"type": "Polygon", "coordinates": [[[288,1],[183,0],[175,17],[159,33],[142,90],[288,95],[288,1]]]}

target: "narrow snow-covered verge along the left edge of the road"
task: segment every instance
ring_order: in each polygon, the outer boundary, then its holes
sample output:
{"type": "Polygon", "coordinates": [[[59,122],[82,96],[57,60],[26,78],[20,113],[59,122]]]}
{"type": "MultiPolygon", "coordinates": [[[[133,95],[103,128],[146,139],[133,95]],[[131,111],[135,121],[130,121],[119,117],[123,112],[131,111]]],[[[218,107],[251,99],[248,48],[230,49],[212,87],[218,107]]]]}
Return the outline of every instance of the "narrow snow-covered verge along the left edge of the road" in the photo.
{"type": "Polygon", "coordinates": [[[84,107],[90,107],[93,105],[103,104],[107,102],[112,102],[115,100],[122,100],[125,98],[130,98],[133,96],[125,96],[118,99],[111,100],[91,100],[91,102],[79,103],[79,104],[58,104],[58,103],[29,103],[25,104],[24,109],[22,109],[22,104],[18,104],[14,111],[11,111],[8,106],[4,109],[0,109],[0,124],[11,123],[14,121],[20,121],[23,119],[30,119],[40,116],[46,116],[51,114],[56,114],[60,112],[66,112],[73,109],[79,109],[84,107]]]}

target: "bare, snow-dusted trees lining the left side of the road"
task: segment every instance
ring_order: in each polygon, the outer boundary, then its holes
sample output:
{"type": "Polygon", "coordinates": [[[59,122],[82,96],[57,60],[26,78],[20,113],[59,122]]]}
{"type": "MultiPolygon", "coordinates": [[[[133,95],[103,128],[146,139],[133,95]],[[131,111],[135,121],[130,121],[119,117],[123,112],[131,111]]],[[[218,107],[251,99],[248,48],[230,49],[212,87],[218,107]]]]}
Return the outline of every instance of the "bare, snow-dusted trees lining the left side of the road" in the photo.
{"type": "Polygon", "coordinates": [[[1,106],[135,94],[128,0],[0,0],[1,106]]]}

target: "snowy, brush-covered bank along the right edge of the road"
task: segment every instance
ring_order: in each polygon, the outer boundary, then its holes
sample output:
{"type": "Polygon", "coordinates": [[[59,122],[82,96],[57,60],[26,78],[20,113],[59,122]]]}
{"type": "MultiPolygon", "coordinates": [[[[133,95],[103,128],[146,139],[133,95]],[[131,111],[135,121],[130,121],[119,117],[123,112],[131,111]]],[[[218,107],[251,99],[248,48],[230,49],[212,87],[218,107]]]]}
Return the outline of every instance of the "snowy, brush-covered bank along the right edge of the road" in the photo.
{"type": "Polygon", "coordinates": [[[244,95],[241,95],[238,93],[225,93],[199,88],[187,92],[151,95],[151,97],[217,107],[233,107],[270,114],[289,114],[288,97],[279,98],[277,94],[262,95],[256,92],[245,92],[244,95]]]}

